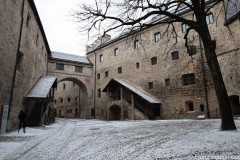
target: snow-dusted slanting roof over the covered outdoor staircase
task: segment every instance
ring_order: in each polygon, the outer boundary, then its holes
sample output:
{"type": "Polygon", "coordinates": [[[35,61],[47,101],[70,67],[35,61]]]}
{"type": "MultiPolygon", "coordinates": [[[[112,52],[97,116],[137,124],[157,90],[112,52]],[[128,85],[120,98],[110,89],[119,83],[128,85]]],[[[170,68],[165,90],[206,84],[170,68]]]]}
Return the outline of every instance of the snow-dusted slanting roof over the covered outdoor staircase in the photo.
{"type": "Polygon", "coordinates": [[[143,98],[144,100],[148,101],[149,103],[160,103],[159,101],[157,101],[156,99],[154,99],[153,97],[150,97],[149,95],[147,95],[146,93],[144,93],[143,91],[140,91],[139,89],[137,89],[136,87],[130,85],[129,83],[123,81],[123,80],[120,80],[120,79],[116,79],[116,78],[113,78],[111,79],[108,84],[106,85],[106,87],[103,89],[103,92],[106,92],[107,88],[109,86],[111,86],[113,83],[118,83],[120,84],[121,86],[129,89],[130,91],[132,91],[133,93],[135,93],[136,95],[140,96],[141,98],[143,98]]]}

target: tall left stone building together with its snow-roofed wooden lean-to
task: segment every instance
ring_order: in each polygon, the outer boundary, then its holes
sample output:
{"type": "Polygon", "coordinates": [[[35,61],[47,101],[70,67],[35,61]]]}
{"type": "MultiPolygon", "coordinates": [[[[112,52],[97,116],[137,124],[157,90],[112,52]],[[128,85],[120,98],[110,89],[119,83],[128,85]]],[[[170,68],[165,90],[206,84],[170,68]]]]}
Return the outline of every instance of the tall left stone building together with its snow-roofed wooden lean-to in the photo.
{"type": "Polygon", "coordinates": [[[35,4],[3,0],[0,15],[1,127],[7,122],[8,130],[16,129],[21,109],[32,124],[53,121],[49,102],[56,77],[47,76],[51,52],[35,4]]]}

